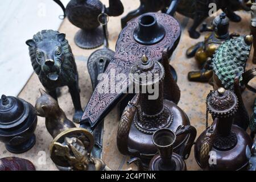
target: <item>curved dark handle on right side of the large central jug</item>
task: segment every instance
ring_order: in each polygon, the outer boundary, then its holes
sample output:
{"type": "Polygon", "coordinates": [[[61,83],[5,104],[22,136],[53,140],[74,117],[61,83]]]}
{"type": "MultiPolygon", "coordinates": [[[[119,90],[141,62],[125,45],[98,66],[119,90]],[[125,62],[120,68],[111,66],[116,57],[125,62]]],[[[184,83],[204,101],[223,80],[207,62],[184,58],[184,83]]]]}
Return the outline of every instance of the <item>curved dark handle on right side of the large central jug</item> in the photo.
{"type": "Polygon", "coordinates": [[[181,146],[179,152],[176,152],[179,154],[184,160],[188,159],[189,154],[191,152],[192,145],[194,144],[195,138],[196,138],[196,129],[195,127],[191,125],[180,125],[177,127],[177,130],[175,132],[176,136],[183,135],[183,134],[189,134],[187,141],[181,146]]]}

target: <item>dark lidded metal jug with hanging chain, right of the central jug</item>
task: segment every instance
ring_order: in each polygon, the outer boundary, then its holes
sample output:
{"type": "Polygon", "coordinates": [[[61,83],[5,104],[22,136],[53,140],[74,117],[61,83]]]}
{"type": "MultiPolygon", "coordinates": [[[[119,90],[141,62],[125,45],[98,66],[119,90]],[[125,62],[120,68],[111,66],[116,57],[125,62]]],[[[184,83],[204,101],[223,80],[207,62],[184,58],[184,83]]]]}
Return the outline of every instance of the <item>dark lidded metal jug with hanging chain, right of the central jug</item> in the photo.
{"type": "MultiPolygon", "coordinates": [[[[219,88],[207,96],[207,112],[212,114],[212,126],[199,136],[195,144],[195,159],[204,170],[240,170],[248,164],[246,146],[252,146],[249,135],[233,125],[238,109],[237,96],[219,88]]],[[[208,114],[207,114],[208,115],[208,114]]]]}

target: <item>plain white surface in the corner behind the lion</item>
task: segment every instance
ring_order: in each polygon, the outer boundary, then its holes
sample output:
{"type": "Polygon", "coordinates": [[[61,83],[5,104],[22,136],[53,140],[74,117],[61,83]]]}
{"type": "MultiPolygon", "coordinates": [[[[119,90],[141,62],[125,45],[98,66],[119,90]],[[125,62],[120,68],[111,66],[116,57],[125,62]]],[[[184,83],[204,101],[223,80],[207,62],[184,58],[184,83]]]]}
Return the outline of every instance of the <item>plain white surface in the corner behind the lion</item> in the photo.
{"type": "MultiPolygon", "coordinates": [[[[62,1],[67,5],[68,0],[62,1]]],[[[26,40],[43,29],[57,30],[63,11],[52,0],[8,0],[0,6],[0,93],[18,96],[33,69],[26,40]]]]}

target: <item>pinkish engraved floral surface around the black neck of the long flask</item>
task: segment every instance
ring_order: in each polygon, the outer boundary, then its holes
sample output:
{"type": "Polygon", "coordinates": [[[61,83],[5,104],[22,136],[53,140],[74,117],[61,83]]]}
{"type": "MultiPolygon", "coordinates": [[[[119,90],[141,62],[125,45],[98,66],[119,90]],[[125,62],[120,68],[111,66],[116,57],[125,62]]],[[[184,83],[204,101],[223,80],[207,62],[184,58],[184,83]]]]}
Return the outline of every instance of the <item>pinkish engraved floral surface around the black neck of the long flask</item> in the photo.
{"type": "Polygon", "coordinates": [[[114,59],[110,62],[105,73],[110,76],[110,70],[115,69],[115,76],[120,73],[126,75],[125,79],[118,81],[115,79],[103,79],[99,81],[96,89],[94,90],[92,97],[90,98],[88,105],[85,107],[84,114],[81,118],[83,121],[89,121],[91,126],[94,126],[97,121],[100,121],[110,111],[113,104],[121,99],[122,93],[113,93],[113,84],[120,84],[123,82],[128,83],[128,74],[130,68],[134,65],[135,61],[141,59],[146,55],[149,59],[159,61],[162,57],[162,51],[164,48],[171,50],[172,47],[177,44],[180,38],[180,25],[172,16],[162,13],[148,13],[156,17],[158,23],[166,30],[164,39],[159,43],[151,46],[144,46],[135,42],[133,38],[133,31],[138,25],[138,18],[131,20],[128,25],[123,28],[119,34],[119,38],[116,44],[116,52],[114,59]],[[109,91],[100,93],[100,90],[109,91]],[[112,91],[112,92],[111,92],[112,91]]]}

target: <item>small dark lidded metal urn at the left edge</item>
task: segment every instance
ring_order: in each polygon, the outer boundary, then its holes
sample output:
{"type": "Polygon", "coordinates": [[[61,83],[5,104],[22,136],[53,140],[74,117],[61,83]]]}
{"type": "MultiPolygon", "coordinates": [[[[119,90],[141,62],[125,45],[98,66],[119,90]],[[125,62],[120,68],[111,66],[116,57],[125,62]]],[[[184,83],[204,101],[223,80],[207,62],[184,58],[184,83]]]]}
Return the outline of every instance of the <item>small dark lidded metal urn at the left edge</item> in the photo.
{"type": "Polygon", "coordinates": [[[20,154],[35,144],[38,118],[28,102],[2,95],[0,100],[0,141],[8,151],[20,154]]]}

